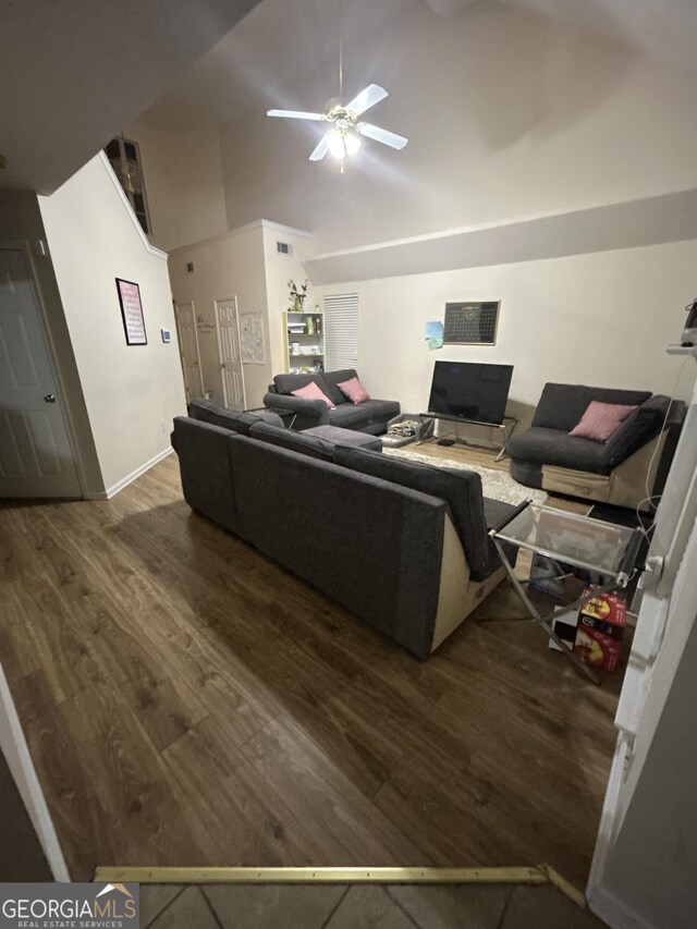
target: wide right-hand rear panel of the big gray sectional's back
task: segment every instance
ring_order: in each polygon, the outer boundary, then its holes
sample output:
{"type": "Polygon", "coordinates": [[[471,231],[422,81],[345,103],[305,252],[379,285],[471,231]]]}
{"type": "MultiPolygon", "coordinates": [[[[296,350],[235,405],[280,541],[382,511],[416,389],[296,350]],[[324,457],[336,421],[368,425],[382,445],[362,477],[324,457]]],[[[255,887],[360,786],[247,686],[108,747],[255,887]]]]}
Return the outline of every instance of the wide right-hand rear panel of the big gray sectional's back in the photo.
{"type": "Polygon", "coordinates": [[[230,445],[242,538],[427,658],[445,503],[253,438],[230,445]]]}

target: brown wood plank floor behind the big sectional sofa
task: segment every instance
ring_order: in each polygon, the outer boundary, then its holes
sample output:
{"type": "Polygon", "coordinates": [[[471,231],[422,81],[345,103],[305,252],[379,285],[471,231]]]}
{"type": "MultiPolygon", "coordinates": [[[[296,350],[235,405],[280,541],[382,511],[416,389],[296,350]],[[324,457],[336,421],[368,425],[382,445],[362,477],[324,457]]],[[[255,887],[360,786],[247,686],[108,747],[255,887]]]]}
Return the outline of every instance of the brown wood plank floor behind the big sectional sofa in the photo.
{"type": "Polygon", "coordinates": [[[192,513],[174,456],[111,501],[0,508],[0,660],[75,879],[547,861],[585,882],[620,679],[478,622],[518,614],[505,585],[419,662],[192,513]]]}

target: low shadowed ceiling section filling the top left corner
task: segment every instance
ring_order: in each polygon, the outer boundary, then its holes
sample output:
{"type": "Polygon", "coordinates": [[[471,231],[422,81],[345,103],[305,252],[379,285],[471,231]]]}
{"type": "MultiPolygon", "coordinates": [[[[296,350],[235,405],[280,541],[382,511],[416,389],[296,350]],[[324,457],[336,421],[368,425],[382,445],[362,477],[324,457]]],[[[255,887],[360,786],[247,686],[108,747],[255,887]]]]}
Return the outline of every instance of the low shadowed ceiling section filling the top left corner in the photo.
{"type": "Polygon", "coordinates": [[[2,0],[0,186],[51,193],[258,0],[2,0]]]}

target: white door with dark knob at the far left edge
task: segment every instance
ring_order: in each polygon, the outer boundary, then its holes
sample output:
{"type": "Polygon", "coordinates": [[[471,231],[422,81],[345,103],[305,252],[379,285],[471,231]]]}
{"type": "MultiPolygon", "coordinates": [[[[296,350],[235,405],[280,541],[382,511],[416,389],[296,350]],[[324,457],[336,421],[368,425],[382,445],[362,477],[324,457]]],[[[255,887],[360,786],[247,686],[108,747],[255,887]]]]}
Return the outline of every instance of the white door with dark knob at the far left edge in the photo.
{"type": "Polygon", "coordinates": [[[21,248],[0,249],[0,497],[82,497],[21,248]]]}

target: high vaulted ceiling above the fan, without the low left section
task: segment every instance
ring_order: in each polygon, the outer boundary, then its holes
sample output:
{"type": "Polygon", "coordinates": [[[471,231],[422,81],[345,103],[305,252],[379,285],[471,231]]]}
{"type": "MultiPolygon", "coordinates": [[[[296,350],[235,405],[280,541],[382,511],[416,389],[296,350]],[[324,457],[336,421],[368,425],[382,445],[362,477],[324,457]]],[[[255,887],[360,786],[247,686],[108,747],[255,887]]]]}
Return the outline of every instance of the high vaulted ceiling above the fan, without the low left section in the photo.
{"type": "Polygon", "coordinates": [[[340,30],[351,48],[415,7],[466,16],[482,3],[528,9],[697,73],[697,0],[262,0],[143,118],[162,129],[213,129],[252,109],[297,105],[289,91],[337,60],[340,30]]]}

